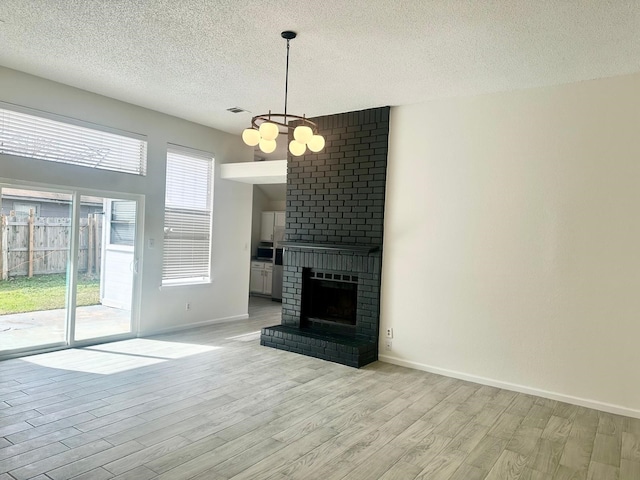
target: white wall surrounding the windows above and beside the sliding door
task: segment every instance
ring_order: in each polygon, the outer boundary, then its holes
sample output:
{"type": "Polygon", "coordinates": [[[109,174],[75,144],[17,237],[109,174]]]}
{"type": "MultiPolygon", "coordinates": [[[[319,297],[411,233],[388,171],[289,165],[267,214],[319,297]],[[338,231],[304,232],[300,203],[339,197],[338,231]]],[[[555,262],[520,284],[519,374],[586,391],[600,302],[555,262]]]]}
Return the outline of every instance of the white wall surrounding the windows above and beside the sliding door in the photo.
{"type": "Polygon", "coordinates": [[[148,137],[146,177],[0,156],[0,177],[145,196],[140,330],[143,334],[201,322],[246,317],[252,186],[219,178],[219,165],[251,161],[239,136],[0,67],[0,101],[137,132],[148,137]],[[211,152],[216,161],[213,212],[213,283],[163,287],[162,237],[166,145],[211,152]],[[185,311],[189,301],[192,309],[185,311]]]}

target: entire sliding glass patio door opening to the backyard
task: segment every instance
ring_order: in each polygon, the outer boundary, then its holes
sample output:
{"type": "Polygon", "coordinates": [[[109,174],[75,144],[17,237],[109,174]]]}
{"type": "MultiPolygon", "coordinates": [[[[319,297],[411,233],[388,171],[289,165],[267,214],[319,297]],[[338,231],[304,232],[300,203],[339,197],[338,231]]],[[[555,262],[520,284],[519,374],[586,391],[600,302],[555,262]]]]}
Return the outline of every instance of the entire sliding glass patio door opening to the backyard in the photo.
{"type": "Polygon", "coordinates": [[[0,185],[0,357],[133,333],[138,203],[0,185]]]}

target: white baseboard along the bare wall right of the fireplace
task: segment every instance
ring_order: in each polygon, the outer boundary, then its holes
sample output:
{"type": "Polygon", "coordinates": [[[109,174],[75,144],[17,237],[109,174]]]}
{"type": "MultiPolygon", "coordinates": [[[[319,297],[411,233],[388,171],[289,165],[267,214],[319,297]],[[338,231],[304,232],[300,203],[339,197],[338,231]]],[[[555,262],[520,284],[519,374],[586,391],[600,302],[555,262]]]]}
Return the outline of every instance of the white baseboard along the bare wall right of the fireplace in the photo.
{"type": "Polygon", "coordinates": [[[511,390],[514,392],[526,393],[529,395],[536,395],[538,397],[549,398],[551,400],[558,400],[560,402],[571,403],[573,405],[579,405],[581,407],[593,408],[595,410],[614,413],[616,415],[624,415],[627,417],[640,418],[640,410],[635,410],[633,408],[627,408],[620,405],[614,405],[611,403],[599,402],[597,400],[590,400],[587,398],[574,397],[571,395],[565,395],[557,392],[549,392],[547,390],[527,387],[525,385],[502,382],[500,380],[494,380],[492,378],[479,377],[476,375],[470,375],[463,372],[457,372],[455,370],[447,370],[445,368],[433,367],[431,365],[412,362],[409,360],[404,360],[402,358],[393,357],[391,355],[378,355],[378,360],[380,360],[381,362],[399,365],[401,367],[408,367],[408,368],[422,370],[429,373],[435,373],[437,375],[443,375],[445,377],[458,378],[460,380],[466,380],[473,383],[488,385],[490,387],[503,388],[505,390],[511,390]]]}

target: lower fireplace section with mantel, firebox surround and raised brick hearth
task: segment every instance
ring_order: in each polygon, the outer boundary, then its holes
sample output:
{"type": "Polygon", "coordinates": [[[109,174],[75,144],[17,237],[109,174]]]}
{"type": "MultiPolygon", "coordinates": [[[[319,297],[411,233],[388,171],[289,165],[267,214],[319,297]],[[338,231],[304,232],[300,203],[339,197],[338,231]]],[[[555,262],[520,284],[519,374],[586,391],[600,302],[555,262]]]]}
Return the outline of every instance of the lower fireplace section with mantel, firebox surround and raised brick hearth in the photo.
{"type": "Polygon", "coordinates": [[[352,367],[378,358],[377,248],[285,242],[282,325],[261,344],[352,367]]]}

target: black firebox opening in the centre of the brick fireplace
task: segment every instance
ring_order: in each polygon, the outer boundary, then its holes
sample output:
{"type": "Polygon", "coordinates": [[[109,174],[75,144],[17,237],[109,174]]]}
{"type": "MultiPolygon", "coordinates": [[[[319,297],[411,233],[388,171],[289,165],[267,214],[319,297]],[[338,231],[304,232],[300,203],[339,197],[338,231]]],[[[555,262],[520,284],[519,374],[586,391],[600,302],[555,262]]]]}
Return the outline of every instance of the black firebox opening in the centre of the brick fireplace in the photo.
{"type": "Polygon", "coordinates": [[[355,326],[358,277],[342,272],[305,269],[302,276],[302,319],[307,327],[355,326]]]}

